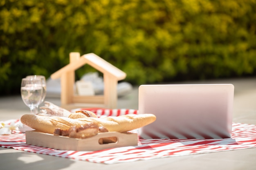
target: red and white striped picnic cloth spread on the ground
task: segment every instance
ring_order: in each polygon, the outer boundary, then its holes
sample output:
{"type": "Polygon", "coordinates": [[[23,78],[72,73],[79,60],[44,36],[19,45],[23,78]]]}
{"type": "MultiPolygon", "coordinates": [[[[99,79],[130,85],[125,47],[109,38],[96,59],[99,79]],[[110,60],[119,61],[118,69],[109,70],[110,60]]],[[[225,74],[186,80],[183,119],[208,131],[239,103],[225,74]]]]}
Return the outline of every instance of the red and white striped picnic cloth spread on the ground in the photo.
{"type": "MultiPolygon", "coordinates": [[[[81,110],[81,109],[80,109],[81,110]]],[[[88,108],[86,110],[89,110],[88,108]]],[[[129,109],[90,109],[99,116],[136,114],[129,109]]],[[[8,121],[7,121],[8,122],[8,121]]],[[[233,123],[227,139],[138,139],[138,146],[99,151],[56,150],[26,144],[25,134],[0,135],[0,146],[95,163],[121,163],[191,154],[256,148],[256,125],[233,123]]]]}

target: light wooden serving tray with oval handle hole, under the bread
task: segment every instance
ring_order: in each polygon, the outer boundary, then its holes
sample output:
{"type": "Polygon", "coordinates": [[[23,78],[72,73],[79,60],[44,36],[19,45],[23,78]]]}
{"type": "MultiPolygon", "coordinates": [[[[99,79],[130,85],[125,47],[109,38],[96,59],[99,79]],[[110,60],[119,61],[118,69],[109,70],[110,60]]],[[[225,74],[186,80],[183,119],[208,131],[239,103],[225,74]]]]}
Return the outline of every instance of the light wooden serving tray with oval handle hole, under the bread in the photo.
{"type": "Polygon", "coordinates": [[[104,132],[86,139],[77,139],[64,136],[54,136],[52,134],[26,131],[26,144],[54,148],[59,150],[94,151],[108,148],[118,148],[123,146],[137,146],[137,133],[104,132]],[[116,137],[117,142],[109,144],[99,144],[99,139],[106,137],[116,137]]]}

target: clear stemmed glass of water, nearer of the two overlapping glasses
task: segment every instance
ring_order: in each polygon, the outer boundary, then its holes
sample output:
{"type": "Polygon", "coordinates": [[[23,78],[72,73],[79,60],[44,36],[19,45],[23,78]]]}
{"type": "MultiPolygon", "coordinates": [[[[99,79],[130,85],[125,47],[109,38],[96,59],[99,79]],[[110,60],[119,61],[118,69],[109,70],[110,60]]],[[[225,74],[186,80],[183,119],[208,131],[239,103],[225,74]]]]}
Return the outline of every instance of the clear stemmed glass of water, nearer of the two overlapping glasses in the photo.
{"type": "Polygon", "coordinates": [[[41,78],[23,78],[20,93],[23,102],[30,108],[31,114],[37,114],[37,107],[42,102],[43,86],[41,78]]]}

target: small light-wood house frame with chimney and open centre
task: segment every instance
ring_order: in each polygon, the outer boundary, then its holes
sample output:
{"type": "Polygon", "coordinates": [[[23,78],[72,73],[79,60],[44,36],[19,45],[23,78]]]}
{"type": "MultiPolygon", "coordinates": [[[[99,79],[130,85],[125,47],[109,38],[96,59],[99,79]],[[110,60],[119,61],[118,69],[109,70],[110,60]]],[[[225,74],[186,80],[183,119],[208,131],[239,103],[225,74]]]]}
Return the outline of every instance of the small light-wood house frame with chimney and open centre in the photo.
{"type": "Polygon", "coordinates": [[[117,108],[117,83],[125,79],[126,73],[106,62],[94,53],[80,56],[80,53],[70,53],[70,63],[51,75],[52,79],[61,79],[61,107],[74,108],[117,108]],[[74,93],[75,71],[89,64],[103,73],[103,95],[80,96],[74,93]]]}

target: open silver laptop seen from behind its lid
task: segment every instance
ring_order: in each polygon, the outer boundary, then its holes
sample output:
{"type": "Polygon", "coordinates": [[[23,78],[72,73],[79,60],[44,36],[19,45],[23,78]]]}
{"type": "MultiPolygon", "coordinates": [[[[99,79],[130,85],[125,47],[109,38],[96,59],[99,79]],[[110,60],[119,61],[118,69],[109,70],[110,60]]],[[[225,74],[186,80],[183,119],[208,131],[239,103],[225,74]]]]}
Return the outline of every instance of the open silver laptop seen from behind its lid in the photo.
{"type": "Polygon", "coordinates": [[[151,113],[157,119],[139,128],[139,138],[229,138],[233,101],[233,84],[141,85],[138,114],[151,113]]]}

